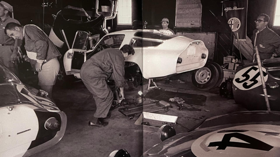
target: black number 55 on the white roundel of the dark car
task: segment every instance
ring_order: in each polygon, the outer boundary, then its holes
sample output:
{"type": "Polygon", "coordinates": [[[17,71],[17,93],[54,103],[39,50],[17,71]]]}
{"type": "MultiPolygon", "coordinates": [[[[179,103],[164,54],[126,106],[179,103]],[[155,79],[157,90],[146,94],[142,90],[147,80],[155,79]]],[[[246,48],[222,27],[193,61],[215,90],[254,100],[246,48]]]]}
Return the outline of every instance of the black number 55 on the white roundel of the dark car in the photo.
{"type": "MultiPolygon", "coordinates": [[[[250,79],[250,75],[248,74],[249,72],[251,72],[251,70],[255,70],[257,71],[258,68],[257,67],[251,67],[250,69],[248,69],[246,72],[244,72],[244,74],[242,74],[241,76],[245,77],[243,80],[240,80],[240,78],[236,78],[235,81],[237,83],[243,83],[242,86],[245,88],[245,89],[249,89],[251,88],[253,85],[257,84],[258,83],[258,80],[256,80],[259,76],[260,76],[260,73],[256,73],[255,76],[253,76],[252,79],[250,79]],[[250,79],[249,81],[251,81],[252,83],[248,85],[247,81],[248,79],[250,79]]],[[[263,76],[266,76],[266,72],[262,71],[263,73],[263,76]]]]}

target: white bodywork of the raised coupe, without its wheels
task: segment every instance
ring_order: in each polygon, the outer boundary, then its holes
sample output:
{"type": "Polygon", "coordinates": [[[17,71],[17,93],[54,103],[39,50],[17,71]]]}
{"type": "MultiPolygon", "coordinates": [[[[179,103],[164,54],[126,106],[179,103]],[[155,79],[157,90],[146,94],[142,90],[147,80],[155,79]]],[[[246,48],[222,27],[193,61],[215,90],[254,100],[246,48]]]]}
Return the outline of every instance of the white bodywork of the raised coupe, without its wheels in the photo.
{"type": "Polygon", "coordinates": [[[66,74],[75,74],[79,77],[80,67],[73,68],[75,52],[83,53],[84,57],[80,58],[85,62],[100,51],[102,44],[116,49],[120,49],[125,44],[132,45],[135,54],[125,61],[136,63],[145,79],[201,68],[208,57],[208,50],[201,40],[192,40],[178,35],[164,35],[156,30],[124,30],[105,35],[92,50],[87,52],[69,49],[64,55],[66,74]]]}

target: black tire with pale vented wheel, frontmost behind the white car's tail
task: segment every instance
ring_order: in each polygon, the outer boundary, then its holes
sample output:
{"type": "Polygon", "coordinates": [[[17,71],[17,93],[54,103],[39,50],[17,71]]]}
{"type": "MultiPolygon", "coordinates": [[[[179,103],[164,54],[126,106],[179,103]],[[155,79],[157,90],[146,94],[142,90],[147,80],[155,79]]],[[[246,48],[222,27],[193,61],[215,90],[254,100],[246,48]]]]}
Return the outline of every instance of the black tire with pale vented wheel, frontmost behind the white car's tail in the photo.
{"type": "Polygon", "coordinates": [[[218,82],[218,69],[211,63],[197,69],[192,74],[192,84],[199,90],[210,90],[218,82]]]}

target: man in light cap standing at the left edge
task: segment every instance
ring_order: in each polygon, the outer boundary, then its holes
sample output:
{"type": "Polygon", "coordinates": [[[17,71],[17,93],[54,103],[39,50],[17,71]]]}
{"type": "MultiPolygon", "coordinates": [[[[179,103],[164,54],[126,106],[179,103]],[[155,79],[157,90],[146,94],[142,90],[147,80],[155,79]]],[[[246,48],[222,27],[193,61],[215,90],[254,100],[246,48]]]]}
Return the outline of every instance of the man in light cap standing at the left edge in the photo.
{"type": "Polygon", "coordinates": [[[7,2],[0,1],[0,62],[17,75],[17,46],[20,46],[21,40],[15,41],[4,32],[9,22],[20,24],[16,19],[10,17],[12,13],[13,7],[7,2]]]}

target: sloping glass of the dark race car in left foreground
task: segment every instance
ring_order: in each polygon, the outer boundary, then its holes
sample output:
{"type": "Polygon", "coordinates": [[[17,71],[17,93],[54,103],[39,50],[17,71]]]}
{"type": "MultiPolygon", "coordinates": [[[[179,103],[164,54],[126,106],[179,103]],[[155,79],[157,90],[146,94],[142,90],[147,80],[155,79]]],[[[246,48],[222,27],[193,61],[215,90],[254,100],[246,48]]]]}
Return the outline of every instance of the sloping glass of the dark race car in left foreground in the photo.
{"type": "Polygon", "coordinates": [[[20,80],[0,63],[0,85],[6,83],[20,83],[20,80]]]}

